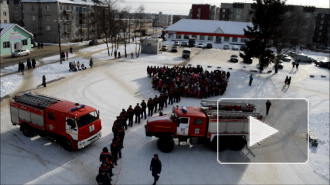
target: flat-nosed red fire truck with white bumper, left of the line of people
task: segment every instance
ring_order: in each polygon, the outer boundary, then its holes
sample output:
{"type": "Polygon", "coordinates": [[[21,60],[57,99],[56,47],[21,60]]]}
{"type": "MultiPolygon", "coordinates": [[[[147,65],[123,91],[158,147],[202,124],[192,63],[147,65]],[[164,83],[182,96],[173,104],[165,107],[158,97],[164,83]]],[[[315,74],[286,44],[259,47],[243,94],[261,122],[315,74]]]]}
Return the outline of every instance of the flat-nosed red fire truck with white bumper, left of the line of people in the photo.
{"type": "Polygon", "coordinates": [[[10,115],[25,136],[47,136],[68,151],[101,138],[99,111],[87,105],[24,93],[10,100],[10,115]]]}

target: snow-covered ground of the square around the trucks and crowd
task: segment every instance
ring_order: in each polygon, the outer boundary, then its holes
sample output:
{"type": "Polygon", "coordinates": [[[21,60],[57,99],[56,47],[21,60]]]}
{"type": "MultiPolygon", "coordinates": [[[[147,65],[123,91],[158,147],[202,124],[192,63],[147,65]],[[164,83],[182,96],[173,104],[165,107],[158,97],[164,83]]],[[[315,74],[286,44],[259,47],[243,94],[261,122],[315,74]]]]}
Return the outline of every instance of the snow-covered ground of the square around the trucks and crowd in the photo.
{"type": "MultiPolygon", "coordinates": [[[[170,41],[165,44],[171,45],[170,41]]],[[[213,49],[192,49],[188,64],[202,65],[205,70],[229,70],[228,88],[218,98],[307,98],[309,100],[309,128],[319,137],[317,148],[309,148],[307,164],[258,164],[221,165],[217,155],[205,145],[176,146],[172,153],[161,153],[156,139],[146,140],[145,120],[126,131],[122,150],[123,158],[114,169],[113,184],[152,184],[149,164],[154,153],[163,163],[159,184],[329,184],[329,70],[313,64],[301,64],[292,70],[291,63],[284,63],[278,74],[252,73],[254,80],[248,86],[251,65],[229,62],[237,51],[224,51],[221,44],[213,49]],[[221,67],[221,68],[218,68],[221,67]],[[229,69],[232,68],[232,69],[229,69]],[[315,75],[310,78],[310,75],[315,75]],[[326,76],[321,77],[321,75],[326,76]],[[291,86],[283,89],[284,79],[291,76],[291,86]]],[[[80,61],[88,66],[90,58],[94,67],[85,71],[69,72],[68,61],[56,62],[57,56],[42,60],[46,65],[26,70],[25,75],[12,72],[17,66],[1,69],[1,97],[21,91],[32,91],[49,96],[91,105],[101,112],[102,138],[85,149],[67,152],[45,138],[27,138],[19,127],[12,126],[9,102],[1,102],[1,184],[96,184],[95,176],[100,165],[99,154],[113,138],[111,127],[122,108],[140,103],[142,99],[159,93],[151,88],[147,66],[170,67],[184,62],[178,53],[163,52],[159,55],[141,54],[139,58],[114,60],[108,56],[105,45],[86,48],[70,56],[69,61],[80,61]],[[40,87],[46,75],[46,88],[40,87]],[[60,79],[60,80],[58,80],[60,79]]],[[[128,54],[134,51],[128,45],[128,54]]],[[[120,46],[124,56],[123,46],[120,46]]],[[[303,51],[323,60],[327,54],[303,51]]],[[[38,66],[39,63],[37,63],[38,66]]],[[[273,70],[268,67],[265,71],[273,70]]],[[[179,105],[198,106],[200,100],[182,98],[179,105]]],[[[165,112],[170,112],[169,106],[165,112]]]]}

